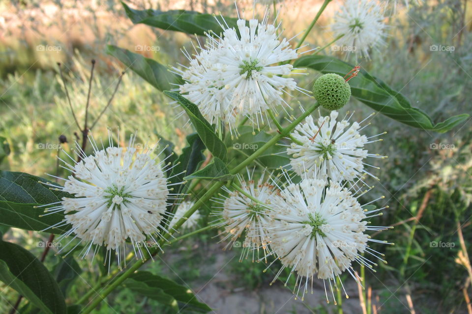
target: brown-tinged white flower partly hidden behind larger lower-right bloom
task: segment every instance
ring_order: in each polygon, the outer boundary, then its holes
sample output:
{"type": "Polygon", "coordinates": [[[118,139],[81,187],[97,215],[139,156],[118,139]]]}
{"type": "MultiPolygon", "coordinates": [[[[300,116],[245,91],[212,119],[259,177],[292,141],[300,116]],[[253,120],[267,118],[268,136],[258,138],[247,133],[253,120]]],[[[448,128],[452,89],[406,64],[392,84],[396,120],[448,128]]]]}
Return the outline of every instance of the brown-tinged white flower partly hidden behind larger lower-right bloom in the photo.
{"type": "Polygon", "coordinates": [[[279,190],[268,181],[272,174],[262,174],[258,182],[252,180],[253,173],[247,170],[249,180],[246,182],[238,176],[240,186],[233,184],[235,191],[226,189],[229,193],[224,199],[216,198],[215,201],[222,204],[222,212],[218,213],[220,222],[216,227],[224,227],[227,233],[222,241],[230,238],[225,248],[240,246],[243,242],[243,250],[239,261],[247,259],[252,251],[252,261],[259,259],[259,249],[267,253],[267,225],[270,211],[270,200],[279,190]],[[255,257],[257,251],[257,257],[255,257]]]}

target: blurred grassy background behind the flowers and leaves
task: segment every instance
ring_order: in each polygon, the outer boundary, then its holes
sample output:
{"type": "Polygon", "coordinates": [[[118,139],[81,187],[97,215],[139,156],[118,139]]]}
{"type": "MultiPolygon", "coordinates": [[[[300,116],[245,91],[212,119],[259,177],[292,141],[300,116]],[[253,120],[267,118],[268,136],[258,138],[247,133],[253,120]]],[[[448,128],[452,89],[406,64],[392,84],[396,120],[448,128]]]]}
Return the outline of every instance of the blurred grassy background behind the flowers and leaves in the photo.
{"type": "MultiPolygon", "coordinates": [[[[185,8],[236,15],[231,1],[127,3],[139,9],[185,8]]],[[[278,4],[279,18],[287,27],[285,36],[290,38],[304,29],[321,4],[322,1],[315,0],[278,4]]],[[[332,40],[326,26],[340,4],[336,1],[329,4],[307,38],[309,45],[304,50],[332,40]]],[[[252,15],[250,1],[237,5],[239,11],[245,8],[246,15],[252,15]]],[[[78,120],[83,121],[89,60],[97,60],[90,98],[93,121],[106,105],[123,70],[116,59],[106,55],[107,44],[141,51],[163,64],[184,64],[180,48],[190,50],[194,39],[182,33],[132,25],[121,4],[114,1],[2,1],[0,10],[0,167],[38,176],[56,172],[59,136],[67,137],[68,143],[62,147],[70,152],[76,140],[74,132],[79,132],[59,79],[57,62],[63,65],[74,111],[78,120]]],[[[472,13],[467,0],[423,0],[410,3],[408,8],[399,3],[389,20],[392,27],[382,52],[371,53],[372,59],[361,60],[360,65],[400,91],[435,121],[472,111],[472,13]]],[[[324,53],[352,58],[329,48],[324,53]]],[[[298,85],[310,89],[314,78],[303,77],[298,85]]],[[[297,100],[302,104],[311,101],[307,97],[297,100]]],[[[371,112],[355,102],[348,107],[355,108],[354,117],[358,120],[371,112]]],[[[170,105],[161,92],[128,71],[114,102],[92,133],[104,137],[107,126],[114,126],[119,127],[123,135],[120,138],[126,138],[125,134],[137,130],[140,142],[153,143],[162,136],[177,143],[179,152],[185,135],[191,131],[178,127],[186,122],[185,117],[178,117],[179,113],[180,109],[170,105]]],[[[377,115],[369,132],[382,131],[388,133],[383,142],[373,144],[371,151],[389,158],[376,164],[382,168],[374,193],[385,195],[390,208],[376,223],[395,226],[394,230],[378,235],[395,242],[395,246],[386,249],[388,264],[380,265],[377,273],[365,272],[365,290],[359,290],[353,280],[344,281],[348,282],[351,296],[344,300],[345,313],[471,314],[472,269],[468,250],[472,239],[472,124],[469,120],[440,134],[413,129],[377,115]]],[[[207,216],[208,211],[208,207],[201,210],[202,221],[214,219],[207,216]]],[[[20,230],[4,235],[33,252],[37,250],[37,255],[42,249],[35,245],[45,240],[44,236],[20,230]]],[[[216,243],[213,236],[218,237],[216,231],[187,238],[148,267],[157,268],[182,284],[199,287],[196,289],[199,297],[216,312],[231,309],[234,313],[274,313],[279,308],[293,313],[337,311],[334,306],[320,306],[324,299],[322,290],[304,302],[284,304],[292,297],[291,291],[283,283],[268,287],[273,275],[269,271],[263,273],[264,264],[251,267],[246,261],[236,263],[241,248],[223,252],[224,243],[216,243]],[[202,247],[204,255],[197,253],[202,250],[196,250],[202,247]]],[[[48,265],[58,262],[59,258],[53,255],[46,260],[48,265]]],[[[85,260],[79,262],[81,267],[93,267],[85,260]]],[[[90,273],[83,272],[81,279],[76,280],[97,280],[87,276],[90,273]]],[[[9,288],[1,289],[0,309],[6,313],[16,294],[9,288]]],[[[85,292],[74,286],[69,295],[80,297],[85,292]]],[[[111,308],[118,313],[166,311],[155,301],[127,289],[109,297],[96,313],[110,313],[111,308]]]]}

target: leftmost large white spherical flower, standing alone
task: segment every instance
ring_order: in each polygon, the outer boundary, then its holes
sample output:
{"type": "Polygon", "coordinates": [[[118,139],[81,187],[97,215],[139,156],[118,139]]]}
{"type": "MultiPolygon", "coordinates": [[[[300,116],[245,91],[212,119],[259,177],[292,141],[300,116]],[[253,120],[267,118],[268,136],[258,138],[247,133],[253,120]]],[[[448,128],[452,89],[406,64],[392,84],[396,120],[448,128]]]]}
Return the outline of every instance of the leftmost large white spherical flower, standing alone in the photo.
{"type": "MultiPolygon", "coordinates": [[[[85,257],[95,245],[107,248],[110,267],[112,250],[118,257],[118,267],[126,266],[126,245],[133,246],[135,256],[144,259],[143,249],[148,246],[159,247],[155,236],[167,233],[162,229],[161,221],[166,218],[167,200],[174,198],[164,173],[169,170],[165,159],[156,161],[152,151],[137,152],[133,147],[135,136],[131,137],[126,148],[115,147],[109,134],[109,147],[99,149],[95,140],[89,136],[93,154],[86,156],[77,145],[80,162],[72,163],[60,159],[72,175],[64,180],[64,186],[55,188],[70,193],[74,198],[64,197],[61,202],[45,205],[46,214],[63,212],[65,218],[52,229],[71,225],[71,228],[58,239],[74,235],[62,247],[65,249],[76,238],[79,244],[86,242],[82,253],[85,257]]],[[[118,139],[119,143],[119,139],[118,139]]],[[[65,152],[64,152],[65,153],[65,152]]],[[[65,153],[67,154],[67,153],[65,153]]],[[[158,154],[158,156],[160,153],[158,154]]],[[[47,230],[47,229],[46,229],[47,230]]],[[[60,253],[60,251],[59,251],[60,253]]],[[[67,253],[67,254],[69,254],[67,253]]],[[[67,255],[66,254],[66,255],[67,255]]],[[[110,269],[110,268],[109,268],[110,269]]]]}

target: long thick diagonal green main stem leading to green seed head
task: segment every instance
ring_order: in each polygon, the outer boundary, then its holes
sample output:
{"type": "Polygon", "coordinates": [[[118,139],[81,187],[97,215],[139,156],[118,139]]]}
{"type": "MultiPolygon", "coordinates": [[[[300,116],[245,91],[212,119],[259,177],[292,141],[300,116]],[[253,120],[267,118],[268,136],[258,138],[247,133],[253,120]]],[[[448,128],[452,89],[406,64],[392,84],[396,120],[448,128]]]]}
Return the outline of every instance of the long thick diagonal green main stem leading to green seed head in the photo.
{"type": "MultiPolygon", "coordinates": [[[[233,168],[230,173],[236,174],[241,169],[246,167],[248,164],[253,162],[257,157],[261,156],[268,148],[275,145],[281,138],[287,136],[291,131],[295,129],[295,127],[303,121],[307,116],[309,116],[313,111],[315,111],[320,105],[315,103],[310,108],[308,108],[301,116],[295,119],[287,128],[279,131],[277,135],[272,137],[266,144],[264,144],[261,148],[255,151],[251,156],[247,157],[243,162],[233,168]]],[[[174,230],[177,230],[182,226],[182,224],[190,217],[197,209],[199,209],[202,205],[204,205],[212,196],[215,194],[223,185],[225,184],[224,181],[216,182],[207,190],[207,192],[200,197],[195,204],[185,212],[182,218],[180,218],[177,223],[174,225],[174,230]]],[[[174,231],[169,230],[169,233],[162,235],[162,240],[159,242],[160,245],[164,244],[165,241],[174,233],[174,231]]],[[[170,241],[167,241],[170,243],[170,241]]],[[[157,250],[154,250],[151,255],[155,255],[157,250]]],[[[89,306],[87,306],[81,313],[82,314],[89,314],[97,305],[107,297],[115,288],[121,285],[129,276],[131,276],[136,270],[138,270],[145,262],[149,260],[150,256],[145,260],[139,260],[135,262],[130,268],[128,268],[125,272],[123,272],[115,281],[113,281],[108,288],[106,288],[99,297],[95,298],[92,302],[90,302],[89,306]]]]}

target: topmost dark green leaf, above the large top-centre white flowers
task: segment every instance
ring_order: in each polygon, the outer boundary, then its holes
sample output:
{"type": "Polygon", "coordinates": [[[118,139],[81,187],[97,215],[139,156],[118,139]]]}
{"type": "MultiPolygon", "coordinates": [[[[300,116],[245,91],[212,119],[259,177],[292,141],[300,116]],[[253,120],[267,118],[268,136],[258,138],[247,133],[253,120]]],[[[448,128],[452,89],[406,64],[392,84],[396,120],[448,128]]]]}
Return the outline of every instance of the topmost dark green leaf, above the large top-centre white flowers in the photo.
{"type": "Polygon", "coordinates": [[[212,14],[200,13],[185,10],[134,10],[121,2],[126,11],[126,15],[133,24],[146,24],[165,30],[176,30],[187,34],[205,35],[209,33],[218,35],[223,32],[220,26],[228,25],[230,28],[236,27],[236,18],[218,17],[218,21],[212,14]]]}

